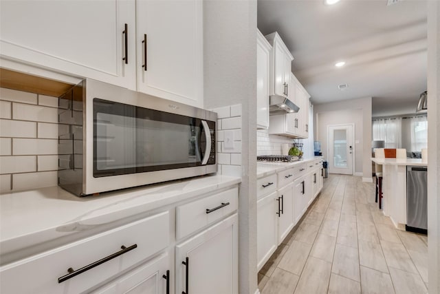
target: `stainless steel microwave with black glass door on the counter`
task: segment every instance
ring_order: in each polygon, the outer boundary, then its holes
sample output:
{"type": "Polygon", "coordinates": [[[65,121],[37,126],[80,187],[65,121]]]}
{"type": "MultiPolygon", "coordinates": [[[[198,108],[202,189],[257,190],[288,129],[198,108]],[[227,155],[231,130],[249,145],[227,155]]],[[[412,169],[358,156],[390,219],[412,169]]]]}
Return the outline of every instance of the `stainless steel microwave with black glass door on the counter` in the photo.
{"type": "Polygon", "coordinates": [[[58,98],[58,185],[76,196],[212,174],[217,114],[86,79],[58,98]]]}

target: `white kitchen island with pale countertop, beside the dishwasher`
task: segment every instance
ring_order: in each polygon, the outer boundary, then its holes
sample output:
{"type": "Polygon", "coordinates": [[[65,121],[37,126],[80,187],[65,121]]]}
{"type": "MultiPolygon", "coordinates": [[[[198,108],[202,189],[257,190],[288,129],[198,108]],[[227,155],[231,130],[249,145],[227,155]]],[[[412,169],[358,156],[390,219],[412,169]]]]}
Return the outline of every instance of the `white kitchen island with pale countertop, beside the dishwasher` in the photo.
{"type": "Polygon", "coordinates": [[[383,213],[389,216],[397,229],[405,231],[406,225],[406,167],[427,167],[420,158],[371,158],[382,165],[383,213]]]}

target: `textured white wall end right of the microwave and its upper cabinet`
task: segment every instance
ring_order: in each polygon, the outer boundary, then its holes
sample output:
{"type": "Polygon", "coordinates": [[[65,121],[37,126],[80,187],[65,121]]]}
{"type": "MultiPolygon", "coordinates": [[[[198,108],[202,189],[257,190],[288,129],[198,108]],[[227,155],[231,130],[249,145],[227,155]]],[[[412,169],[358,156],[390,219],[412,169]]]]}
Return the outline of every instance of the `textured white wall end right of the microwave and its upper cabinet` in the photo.
{"type": "Polygon", "coordinates": [[[256,0],[203,1],[205,108],[241,104],[239,293],[255,293],[256,0]]]}

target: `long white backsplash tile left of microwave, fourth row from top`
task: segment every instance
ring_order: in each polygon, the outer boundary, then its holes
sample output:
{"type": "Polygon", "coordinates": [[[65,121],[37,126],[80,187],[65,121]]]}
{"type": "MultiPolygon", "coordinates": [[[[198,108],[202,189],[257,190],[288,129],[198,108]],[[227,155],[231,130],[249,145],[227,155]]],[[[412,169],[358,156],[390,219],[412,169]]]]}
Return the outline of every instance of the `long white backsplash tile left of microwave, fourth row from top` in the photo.
{"type": "Polygon", "coordinates": [[[58,140],[52,139],[12,139],[14,155],[55,155],[58,154],[58,140]]]}

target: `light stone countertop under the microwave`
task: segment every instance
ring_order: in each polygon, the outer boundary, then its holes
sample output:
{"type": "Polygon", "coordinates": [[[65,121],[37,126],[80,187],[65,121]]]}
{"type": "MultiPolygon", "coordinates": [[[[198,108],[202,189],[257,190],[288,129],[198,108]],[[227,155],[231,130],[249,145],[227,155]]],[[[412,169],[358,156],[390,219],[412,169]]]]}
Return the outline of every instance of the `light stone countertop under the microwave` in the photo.
{"type": "Polygon", "coordinates": [[[0,195],[0,257],[21,249],[32,251],[32,246],[43,246],[41,244],[45,242],[73,233],[93,231],[138,213],[231,187],[239,182],[241,178],[217,175],[84,198],[78,198],[60,187],[3,194],[0,195]]]}

